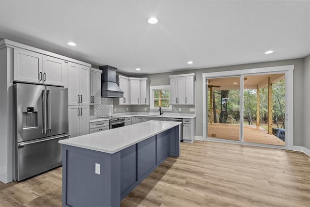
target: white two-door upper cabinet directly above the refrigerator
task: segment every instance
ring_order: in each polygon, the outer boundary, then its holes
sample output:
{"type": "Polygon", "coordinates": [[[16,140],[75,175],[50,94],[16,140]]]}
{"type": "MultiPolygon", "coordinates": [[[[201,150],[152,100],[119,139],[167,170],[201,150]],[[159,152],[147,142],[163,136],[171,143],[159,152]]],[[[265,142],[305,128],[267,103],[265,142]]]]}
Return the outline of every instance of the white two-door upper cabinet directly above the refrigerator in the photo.
{"type": "Polygon", "coordinates": [[[68,63],[58,58],[14,48],[14,80],[67,87],[68,63]]]}

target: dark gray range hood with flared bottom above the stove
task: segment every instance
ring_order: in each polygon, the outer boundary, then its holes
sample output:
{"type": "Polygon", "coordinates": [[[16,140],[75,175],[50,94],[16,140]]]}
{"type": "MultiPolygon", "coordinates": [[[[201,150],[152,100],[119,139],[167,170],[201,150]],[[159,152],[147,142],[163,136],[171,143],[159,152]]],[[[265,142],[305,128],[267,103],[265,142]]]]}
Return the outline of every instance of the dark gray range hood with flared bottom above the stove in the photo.
{"type": "Polygon", "coordinates": [[[116,83],[116,67],[104,65],[99,67],[101,74],[101,97],[122,98],[124,91],[116,83]]]}

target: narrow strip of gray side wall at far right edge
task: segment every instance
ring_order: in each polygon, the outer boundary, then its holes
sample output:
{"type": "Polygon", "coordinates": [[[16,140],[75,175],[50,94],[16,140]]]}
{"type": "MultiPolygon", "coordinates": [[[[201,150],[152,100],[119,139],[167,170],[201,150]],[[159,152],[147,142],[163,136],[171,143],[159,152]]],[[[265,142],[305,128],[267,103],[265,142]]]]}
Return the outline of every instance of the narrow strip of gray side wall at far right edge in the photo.
{"type": "Polygon", "coordinates": [[[304,114],[304,122],[302,125],[304,126],[304,147],[310,149],[310,127],[308,127],[308,123],[310,123],[310,55],[308,55],[304,59],[304,110],[302,111],[304,114]]]}

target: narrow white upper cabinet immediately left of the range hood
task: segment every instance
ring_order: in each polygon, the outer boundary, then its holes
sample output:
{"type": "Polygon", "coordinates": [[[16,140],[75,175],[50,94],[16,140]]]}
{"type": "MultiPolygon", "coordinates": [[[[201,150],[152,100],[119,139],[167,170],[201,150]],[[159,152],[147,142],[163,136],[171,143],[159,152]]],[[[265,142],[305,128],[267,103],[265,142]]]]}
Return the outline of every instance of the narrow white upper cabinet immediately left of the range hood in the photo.
{"type": "Polygon", "coordinates": [[[90,105],[101,104],[101,73],[102,70],[90,68],[90,105]]]}

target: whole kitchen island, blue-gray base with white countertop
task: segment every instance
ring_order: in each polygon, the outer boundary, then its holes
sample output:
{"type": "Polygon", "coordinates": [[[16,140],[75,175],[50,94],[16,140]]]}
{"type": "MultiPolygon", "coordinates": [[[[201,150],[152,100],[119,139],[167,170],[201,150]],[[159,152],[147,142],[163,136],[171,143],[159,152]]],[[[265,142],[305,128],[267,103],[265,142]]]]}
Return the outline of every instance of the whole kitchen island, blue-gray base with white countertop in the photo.
{"type": "Polygon", "coordinates": [[[62,140],[62,206],[120,206],[169,156],[181,122],[148,121],[62,140]]]}

